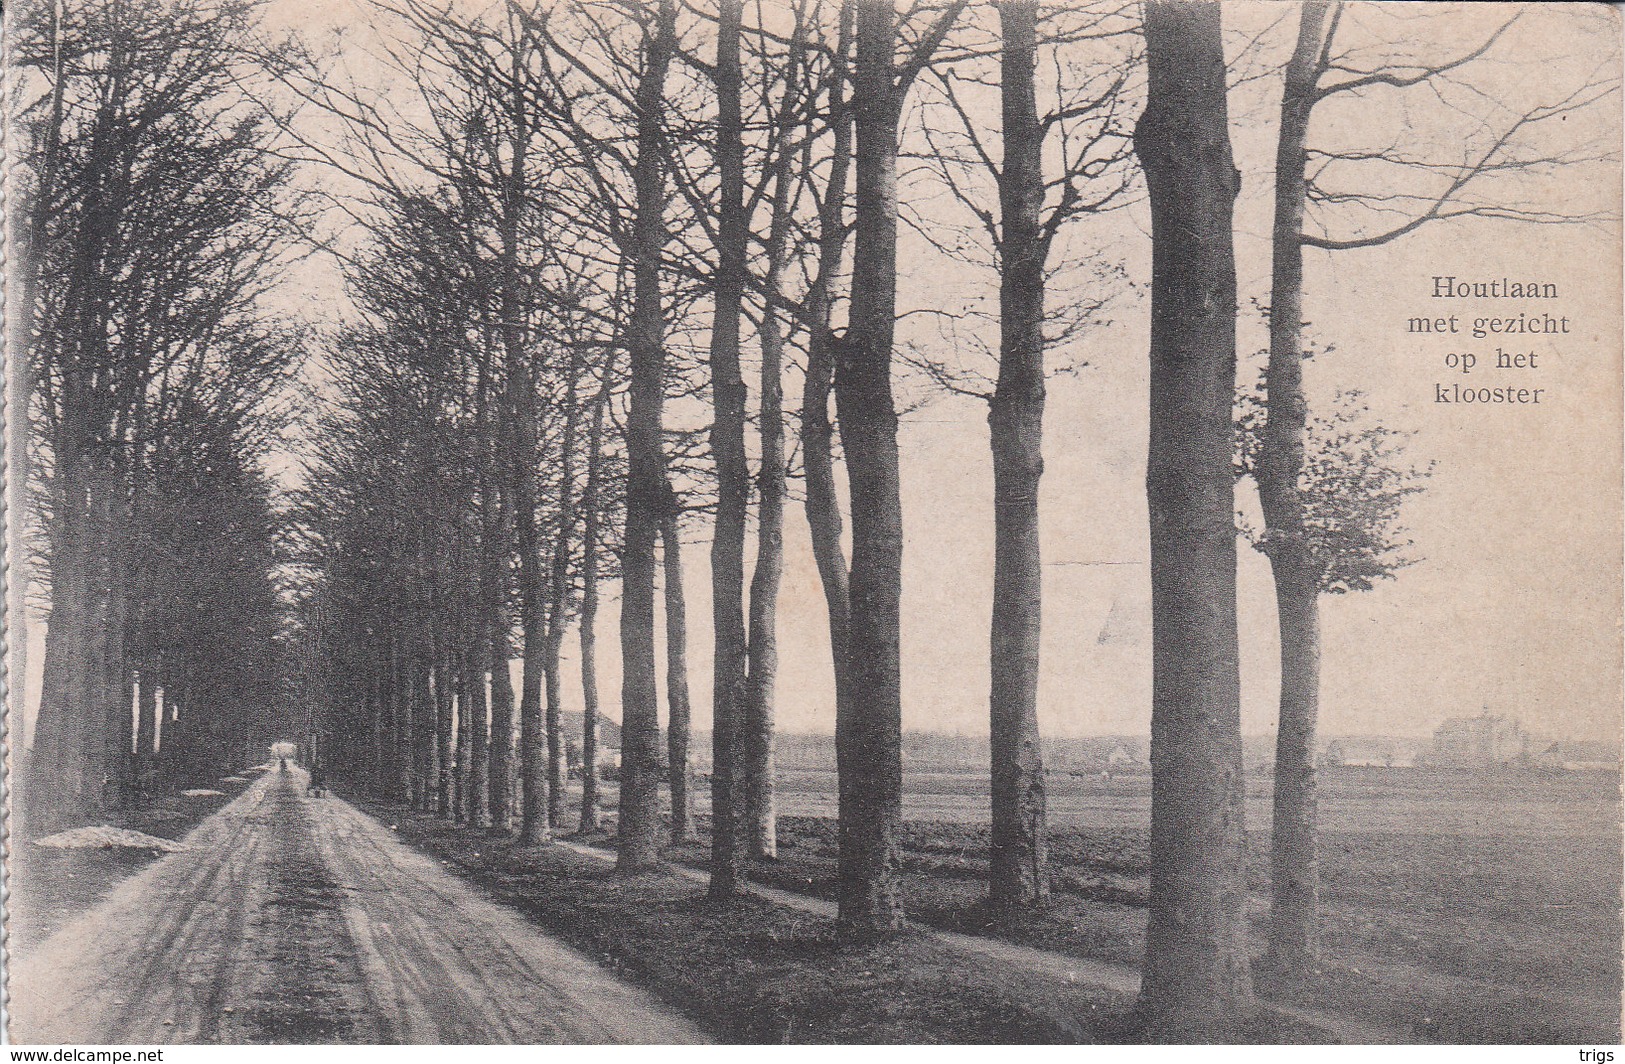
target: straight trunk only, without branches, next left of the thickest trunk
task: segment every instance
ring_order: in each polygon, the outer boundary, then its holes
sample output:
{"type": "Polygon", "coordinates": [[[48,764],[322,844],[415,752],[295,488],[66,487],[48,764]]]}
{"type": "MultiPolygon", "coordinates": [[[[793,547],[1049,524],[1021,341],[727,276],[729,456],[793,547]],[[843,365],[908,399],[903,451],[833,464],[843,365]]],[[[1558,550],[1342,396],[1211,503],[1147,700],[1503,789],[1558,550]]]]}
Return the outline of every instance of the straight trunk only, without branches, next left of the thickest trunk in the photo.
{"type": "Polygon", "coordinates": [[[1050,898],[1043,754],[1038,746],[1038,648],[1043,569],[1038,478],[1043,476],[1043,128],[1034,65],[1037,0],[999,5],[1004,167],[999,262],[999,380],[988,411],[993,440],[993,754],[994,910],[1050,898]]]}

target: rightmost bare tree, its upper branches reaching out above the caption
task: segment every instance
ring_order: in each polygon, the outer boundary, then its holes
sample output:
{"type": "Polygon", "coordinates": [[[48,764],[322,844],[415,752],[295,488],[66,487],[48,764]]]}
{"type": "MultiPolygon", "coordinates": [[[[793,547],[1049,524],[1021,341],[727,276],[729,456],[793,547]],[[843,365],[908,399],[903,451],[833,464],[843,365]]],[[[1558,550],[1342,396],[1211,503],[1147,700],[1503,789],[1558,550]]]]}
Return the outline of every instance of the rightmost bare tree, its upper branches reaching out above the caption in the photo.
{"type": "MultiPolygon", "coordinates": [[[[1316,544],[1310,510],[1315,478],[1306,452],[1310,424],[1303,390],[1303,249],[1347,250],[1398,240],[1422,226],[1464,218],[1524,223],[1586,221],[1562,206],[1528,198],[1528,182],[1558,167],[1602,156],[1597,146],[1563,143],[1566,119],[1615,91],[1609,78],[1550,96],[1524,109],[1454,84],[1490,55],[1521,13],[1503,19],[1474,47],[1440,60],[1402,58],[1389,45],[1376,55],[1339,49],[1342,3],[1305,3],[1287,63],[1276,149],[1269,364],[1264,417],[1254,471],[1264,510],[1259,549],[1276,582],[1280,629],[1280,723],[1276,737],[1274,827],[1271,845],[1271,934],[1268,968],[1294,980],[1318,960],[1320,866],[1315,840],[1315,733],[1320,716],[1320,595],[1328,557],[1316,544]],[[1454,88],[1456,93],[1446,93],[1454,88]],[[1450,153],[1427,145],[1407,149],[1310,143],[1318,106],[1358,106],[1376,94],[1432,91],[1451,119],[1472,119],[1476,132],[1450,153]],[[1458,104],[1462,96],[1467,104],[1458,104]],[[1464,112],[1464,114],[1462,114],[1464,112]],[[1318,206],[1311,216],[1310,208],[1318,206]],[[1347,229],[1334,234],[1332,227],[1347,229]]],[[[1424,24],[1438,19],[1430,13],[1424,24]]],[[[1349,36],[1349,34],[1346,34],[1349,36]]],[[[1542,91],[1531,91],[1539,97],[1542,91]]]]}

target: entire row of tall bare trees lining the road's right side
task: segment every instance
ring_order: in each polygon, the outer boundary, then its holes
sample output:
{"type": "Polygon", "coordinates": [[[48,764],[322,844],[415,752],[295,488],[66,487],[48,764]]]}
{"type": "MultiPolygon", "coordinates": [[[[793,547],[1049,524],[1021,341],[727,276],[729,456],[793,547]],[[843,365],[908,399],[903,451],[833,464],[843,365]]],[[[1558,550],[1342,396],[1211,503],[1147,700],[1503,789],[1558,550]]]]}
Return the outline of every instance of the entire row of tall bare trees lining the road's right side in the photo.
{"type": "MultiPolygon", "coordinates": [[[[1142,19],[1113,5],[1029,0],[902,11],[878,0],[515,0],[484,16],[406,2],[392,13],[401,36],[382,52],[410,83],[411,107],[333,76],[289,78],[343,128],[338,148],[318,138],[306,146],[364,190],[344,210],[370,234],[351,270],[366,323],[332,344],[338,401],[318,434],[310,517],[322,530],[320,616],[343,677],[330,694],[340,707],[332,726],[356,750],[351,763],[370,765],[398,796],[474,824],[505,827],[510,796],[522,794],[525,843],[561,828],[559,645],[578,622],[582,702],[596,707],[592,616],[600,580],[616,572],[619,866],[656,864],[661,776],[673,841],[692,830],[679,515],[707,510],[710,890],[738,893],[748,854],[774,853],[774,612],[788,478],[800,474],[834,651],[840,926],[858,939],[900,928],[902,348],[934,383],[988,403],[990,900],[1008,915],[1042,906],[1045,378],[1064,369],[1051,357],[1058,341],[1113,299],[1113,265],[1081,253],[1068,234],[1131,205],[1144,175],[1155,684],[1142,1006],[1154,1030],[1176,1035],[1222,1030],[1254,1009],[1238,473],[1261,489],[1264,528],[1253,539],[1274,567],[1282,632],[1268,971],[1310,970],[1315,603],[1412,560],[1398,515],[1427,469],[1404,461],[1402,434],[1372,421],[1357,393],[1320,416],[1308,411],[1303,249],[1373,245],[1464,214],[1573,221],[1508,206],[1506,192],[1528,193],[1529,177],[1597,158],[1583,145],[1544,148],[1537,127],[1612,86],[1588,80],[1532,106],[1497,102],[1464,138],[1459,162],[1459,153],[1433,159],[1402,146],[1316,146],[1316,104],[1417,86],[1448,97],[1446,83],[1508,26],[1459,55],[1407,60],[1373,49],[1360,28],[1339,37],[1341,5],[1306,5],[1282,94],[1269,359],[1258,391],[1238,398],[1238,174],[1227,107],[1237,71],[1216,5],[1152,2],[1142,19]],[[994,101],[999,122],[990,123],[994,101]],[[1360,187],[1373,162],[1393,172],[1360,187]],[[933,192],[946,192],[965,223],[908,206],[910,195],[933,192]],[[1311,221],[1321,229],[1311,232],[1311,221]],[[998,343],[986,344],[996,372],[986,387],[962,359],[899,344],[905,226],[910,239],[996,270],[988,317],[998,343]],[[1068,289],[1061,314],[1046,305],[1051,284],[1068,289]],[[754,395],[748,356],[760,367],[754,395]],[[800,468],[786,456],[786,367],[803,378],[800,468]],[[752,504],[759,538],[748,583],[752,504]],[[520,754],[509,767],[515,630],[525,668],[520,754]]],[[[941,317],[944,335],[973,333],[941,317]]],[[[596,711],[585,720],[592,746],[596,711]]],[[[583,827],[596,824],[596,776],[588,755],[583,827]]]]}

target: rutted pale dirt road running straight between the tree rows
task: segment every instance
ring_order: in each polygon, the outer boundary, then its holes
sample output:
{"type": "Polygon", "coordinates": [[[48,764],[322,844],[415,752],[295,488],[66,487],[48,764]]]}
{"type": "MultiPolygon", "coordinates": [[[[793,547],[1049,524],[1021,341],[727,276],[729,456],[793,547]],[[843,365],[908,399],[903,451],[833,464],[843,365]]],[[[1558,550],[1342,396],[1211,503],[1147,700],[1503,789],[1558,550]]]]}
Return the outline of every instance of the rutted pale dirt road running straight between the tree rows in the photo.
{"type": "Polygon", "coordinates": [[[23,958],[13,1041],[705,1041],[304,781],[266,773],[23,958]]]}

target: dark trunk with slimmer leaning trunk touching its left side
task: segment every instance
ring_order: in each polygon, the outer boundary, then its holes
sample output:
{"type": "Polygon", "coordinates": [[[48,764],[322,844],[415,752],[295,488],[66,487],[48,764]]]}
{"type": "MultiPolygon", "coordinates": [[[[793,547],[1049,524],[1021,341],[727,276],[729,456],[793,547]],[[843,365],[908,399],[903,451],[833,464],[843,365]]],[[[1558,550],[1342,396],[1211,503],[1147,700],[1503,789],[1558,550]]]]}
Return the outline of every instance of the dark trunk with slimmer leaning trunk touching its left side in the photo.
{"type": "Polygon", "coordinates": [[[897,897],[902,828],[902,497],[892,333],[897,323],[895,11],[864,2],[856,15],[856,245],[852,309],[835,403],[852,491],[852,616],[847,632],[850,703],[837,720],[840,775],[840,928],[847,937],[904,926],[897,897]]]}

